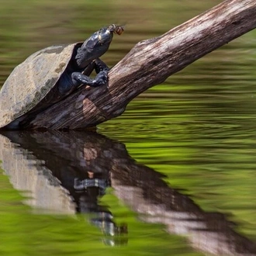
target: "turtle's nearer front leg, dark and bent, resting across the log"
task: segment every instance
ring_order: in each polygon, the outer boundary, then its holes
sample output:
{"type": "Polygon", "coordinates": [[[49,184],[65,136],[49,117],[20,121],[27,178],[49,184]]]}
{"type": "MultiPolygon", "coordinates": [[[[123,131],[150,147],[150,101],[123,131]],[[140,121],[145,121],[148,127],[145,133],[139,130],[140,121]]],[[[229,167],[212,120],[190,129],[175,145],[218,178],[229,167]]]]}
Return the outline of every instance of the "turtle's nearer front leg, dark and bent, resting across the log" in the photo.
{"type": "Polygon", "coordinates": [[[97,87],[105,85],[109,81],[108,71],[99,71],[99,74],[97,74],[94,79],[89,78],[87,75],[81,74],[80,72],[73,72],[71,76],[74,86],[84,84],[97,87]]]}

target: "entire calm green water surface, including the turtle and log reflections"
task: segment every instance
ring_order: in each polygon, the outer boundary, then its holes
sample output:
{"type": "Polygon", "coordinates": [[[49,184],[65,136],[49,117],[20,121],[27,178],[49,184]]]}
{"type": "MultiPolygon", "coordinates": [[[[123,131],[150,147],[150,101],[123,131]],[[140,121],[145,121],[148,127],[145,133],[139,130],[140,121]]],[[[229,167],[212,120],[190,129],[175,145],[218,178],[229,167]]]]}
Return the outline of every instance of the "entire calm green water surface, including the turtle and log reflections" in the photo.
{"type": "MultiPolygon", "coordinates": [[[[112,66],[218,2],[2,1],[0,83],[36,50],[126,24],[102,57],[112,66]]],[[[255,38],[172,75],[98,133],[0,134],[0,253],[255,255],[255,38]]]]}

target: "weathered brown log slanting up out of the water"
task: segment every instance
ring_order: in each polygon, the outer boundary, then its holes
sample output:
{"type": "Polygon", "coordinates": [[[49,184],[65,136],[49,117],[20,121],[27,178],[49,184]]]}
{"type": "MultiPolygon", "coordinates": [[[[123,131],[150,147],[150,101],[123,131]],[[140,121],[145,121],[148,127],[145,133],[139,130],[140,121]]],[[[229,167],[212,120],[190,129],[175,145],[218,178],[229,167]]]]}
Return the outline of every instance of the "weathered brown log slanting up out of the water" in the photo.
{"type": "Polygon", "coordinates": [[[79,88],[40,112],[31,126],[83,129],[119,116],[141,92],[255,27],[255,0],[224,1],[161,36],[137,43],[109,71],[108,85],[79,88]]]}

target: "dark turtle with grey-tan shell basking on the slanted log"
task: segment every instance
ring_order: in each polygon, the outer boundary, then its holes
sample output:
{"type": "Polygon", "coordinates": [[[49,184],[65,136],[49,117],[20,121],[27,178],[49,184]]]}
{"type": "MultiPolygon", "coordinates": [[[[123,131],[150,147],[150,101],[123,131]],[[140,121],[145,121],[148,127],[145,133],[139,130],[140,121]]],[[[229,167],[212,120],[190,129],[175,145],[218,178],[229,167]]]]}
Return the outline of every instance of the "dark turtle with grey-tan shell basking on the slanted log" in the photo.
{"type": "Polygon", "coordinates": [[[113,33],[123,33],[123,26],[103,27],[85,42],[44,48],[15,67],[0,91],[0,129],[25,129],[36,114],[81,85],[105,85],[109,67],[99,57],[113,33]],[[96,76],[90,78],[93,70],[96,76]]]}

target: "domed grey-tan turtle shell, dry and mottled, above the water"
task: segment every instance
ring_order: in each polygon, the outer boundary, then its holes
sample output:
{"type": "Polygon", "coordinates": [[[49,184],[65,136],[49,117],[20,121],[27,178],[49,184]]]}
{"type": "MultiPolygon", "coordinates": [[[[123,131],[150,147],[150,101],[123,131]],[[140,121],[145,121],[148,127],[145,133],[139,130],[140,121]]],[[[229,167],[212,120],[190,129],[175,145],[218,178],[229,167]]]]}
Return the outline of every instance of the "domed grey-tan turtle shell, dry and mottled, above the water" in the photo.
{"type": "Polygon", "coordinates": [[[15,67],[0,91],[0,128],[29,112],[54,88],[77,45],[47,47],[15,67]]]}

